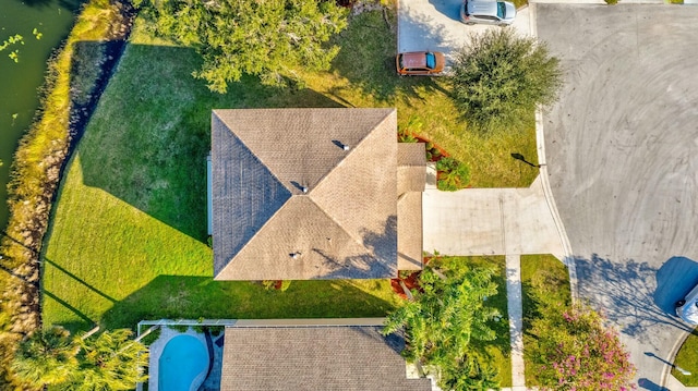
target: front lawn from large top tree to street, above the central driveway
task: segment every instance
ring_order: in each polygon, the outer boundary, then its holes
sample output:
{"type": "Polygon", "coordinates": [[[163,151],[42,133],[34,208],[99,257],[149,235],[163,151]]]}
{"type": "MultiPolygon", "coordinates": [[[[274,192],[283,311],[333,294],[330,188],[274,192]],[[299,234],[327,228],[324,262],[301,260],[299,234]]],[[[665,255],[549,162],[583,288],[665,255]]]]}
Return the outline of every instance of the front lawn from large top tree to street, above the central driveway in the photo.
{"type": "MultiPolygon", "coordinates": [[[[395,14],[390,25],[396,26],[395,14]]],[[[329,73],[303,74],[309,88],[345,106],[396,107],[398,126],[432,139],[470,168],[473,187],[527,187],[538,175],[512,157],[538,163],[535,130],[485,136],[468,132],[450,98],[446,77],[397,76],[395,33],[388,34],[380,12],[353,20],[337,42],[341,50],[329,73]],[[409,127],[410,119],[422,125],[409,127]]]]}

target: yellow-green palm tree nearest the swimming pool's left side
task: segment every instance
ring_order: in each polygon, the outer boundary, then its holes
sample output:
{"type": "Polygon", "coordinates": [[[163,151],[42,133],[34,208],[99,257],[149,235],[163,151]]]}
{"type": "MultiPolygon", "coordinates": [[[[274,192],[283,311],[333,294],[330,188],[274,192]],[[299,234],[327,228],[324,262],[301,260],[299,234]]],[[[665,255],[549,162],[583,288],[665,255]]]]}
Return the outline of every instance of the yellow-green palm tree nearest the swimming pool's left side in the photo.
{"type": "Polygon", "coordinates": [[[70,391],[132,390],[145,381],[147,347],[131,340],[129,329],[105,331],[97,338],[80,339],[80,368],[72,380],[60,387],[70,391]]]}

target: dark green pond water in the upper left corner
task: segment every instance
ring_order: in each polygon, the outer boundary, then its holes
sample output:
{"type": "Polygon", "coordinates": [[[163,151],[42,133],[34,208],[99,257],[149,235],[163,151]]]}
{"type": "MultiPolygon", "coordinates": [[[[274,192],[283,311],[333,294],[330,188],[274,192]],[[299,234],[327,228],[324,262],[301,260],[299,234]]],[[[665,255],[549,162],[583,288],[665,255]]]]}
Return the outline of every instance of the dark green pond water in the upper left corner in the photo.
{"type": "Polygon", "coordinates": [[[38,107],[37,89],[44,83],[46,61],[68,36],[81,3],[82,0],[0,0],[0,160],[4,163],[0,167],[1,229],[8,223],[7,185],[12,155],[38,107]],[[16,62],[10,56],[16,56],[16,62]]]}

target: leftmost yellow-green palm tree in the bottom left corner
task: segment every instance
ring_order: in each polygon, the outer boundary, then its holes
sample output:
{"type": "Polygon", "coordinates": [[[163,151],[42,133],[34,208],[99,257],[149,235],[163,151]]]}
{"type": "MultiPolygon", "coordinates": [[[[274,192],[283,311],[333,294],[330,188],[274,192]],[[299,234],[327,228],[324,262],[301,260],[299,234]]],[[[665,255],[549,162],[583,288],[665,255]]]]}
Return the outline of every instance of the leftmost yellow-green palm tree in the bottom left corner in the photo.
{"type": "Polygon", "coordinates": [[[11,368],[27,387],[40,389],[60,384],[77,369],[75,355],[79,349],[63,328],[37,330],[19,344],[11,368]]]}

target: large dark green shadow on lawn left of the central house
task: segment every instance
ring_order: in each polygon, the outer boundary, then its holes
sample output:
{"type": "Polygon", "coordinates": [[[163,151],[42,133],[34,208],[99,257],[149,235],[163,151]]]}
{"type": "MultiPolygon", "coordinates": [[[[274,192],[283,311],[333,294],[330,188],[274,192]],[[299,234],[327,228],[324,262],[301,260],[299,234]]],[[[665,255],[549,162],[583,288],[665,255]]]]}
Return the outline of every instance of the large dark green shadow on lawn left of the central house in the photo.
{"type": "MultiPolygon", "coordinates": [[[[82,42],[79,50],[97,50],[94,45],[82,42]]],[[[212,110],[342,105],[312,89],[265,86],[249,76],[219,95],[192,77],[200,65],[189,48],[129,44],[79,151],[86,186],[205,242],[212,110]]]]}

